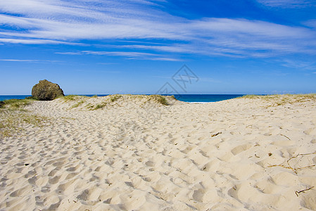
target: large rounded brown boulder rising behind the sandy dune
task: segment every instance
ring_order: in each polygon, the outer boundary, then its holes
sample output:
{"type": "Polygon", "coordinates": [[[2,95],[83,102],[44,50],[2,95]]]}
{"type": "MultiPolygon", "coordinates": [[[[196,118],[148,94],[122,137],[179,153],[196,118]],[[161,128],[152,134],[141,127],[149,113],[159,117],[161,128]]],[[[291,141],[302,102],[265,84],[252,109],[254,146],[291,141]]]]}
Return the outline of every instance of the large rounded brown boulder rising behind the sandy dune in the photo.
{"type": "Polygon", "coordinates": [[[32,88],[32,97],[37,98],[39,101],[52,101],[60,96],[65,96],[63,89],[58,84],[53,84],[46,79],[39,81],[32,88]]]}

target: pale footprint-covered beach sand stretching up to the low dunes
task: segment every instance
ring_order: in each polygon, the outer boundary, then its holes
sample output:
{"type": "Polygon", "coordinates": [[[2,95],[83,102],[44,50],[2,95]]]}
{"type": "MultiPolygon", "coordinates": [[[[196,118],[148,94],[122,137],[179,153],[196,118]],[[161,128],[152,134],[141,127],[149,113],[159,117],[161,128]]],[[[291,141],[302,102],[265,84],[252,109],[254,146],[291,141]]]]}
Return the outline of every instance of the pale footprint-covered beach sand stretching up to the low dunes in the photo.
{"type": "Polygon", "coordinates": [[[1,137],[0,210],[316,210],[316,101],[280,98],[35,101],[49,123],[1,137]]]}

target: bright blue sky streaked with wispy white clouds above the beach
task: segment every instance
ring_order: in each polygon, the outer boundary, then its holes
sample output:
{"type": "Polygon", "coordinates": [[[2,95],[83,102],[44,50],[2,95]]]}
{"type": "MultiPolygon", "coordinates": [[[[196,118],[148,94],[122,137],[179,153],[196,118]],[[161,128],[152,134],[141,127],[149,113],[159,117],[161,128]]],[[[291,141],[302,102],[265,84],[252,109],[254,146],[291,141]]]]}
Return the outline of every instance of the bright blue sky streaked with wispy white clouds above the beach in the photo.
{"type": "Polygon", "coordinates": [[[0,1],[0,95],[316,93],[316,0],[0,1]]]}

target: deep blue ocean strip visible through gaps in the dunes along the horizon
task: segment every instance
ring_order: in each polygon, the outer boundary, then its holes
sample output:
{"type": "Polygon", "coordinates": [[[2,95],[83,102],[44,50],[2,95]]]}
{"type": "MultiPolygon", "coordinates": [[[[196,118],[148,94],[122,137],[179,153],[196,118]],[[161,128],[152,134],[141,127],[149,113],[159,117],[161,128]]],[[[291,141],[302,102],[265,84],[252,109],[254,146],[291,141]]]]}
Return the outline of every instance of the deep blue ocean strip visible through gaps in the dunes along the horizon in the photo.
{"type": "MultiPolygon", "coordinates": [[[[97,94],[97,96],[107,96],[108,94],[97,94]]],[[[0,101],[9,99],[24,99],[30,95],[0,95],[0,101]]],[[[93,94],[86,94],[83,96],[94,96],[93,94]]],[[[232,98],[244,96],[244,94],[175,94],[178,101],[187,103],[210,103],[217,101],[225,101],[232,98]]]]}

